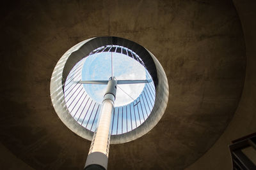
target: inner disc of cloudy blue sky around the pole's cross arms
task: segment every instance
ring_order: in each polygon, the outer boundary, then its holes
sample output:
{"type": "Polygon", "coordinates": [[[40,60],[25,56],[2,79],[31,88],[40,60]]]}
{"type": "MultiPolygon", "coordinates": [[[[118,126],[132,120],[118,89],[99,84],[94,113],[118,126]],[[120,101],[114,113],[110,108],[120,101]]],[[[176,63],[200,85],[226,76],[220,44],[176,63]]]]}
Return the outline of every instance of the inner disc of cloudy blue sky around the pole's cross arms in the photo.
{"type": "MultiPolygon", "coordinates": [[[[113,52],[114,76],[117,80],[145,80],[146,70],[137,60],[122,53],[113,52]]],[[[82,80],[109,80],[111,77],[111,52],[95,53],[86,57],[82,80]]],[[[87,94],[97,103],[102,103],[106,85],[83,85],[87,94]]],[[[115,106],[124,106],[138,98],[145,83],[118,85],[115,106]],[[124,92],[123,92],[124,90],[124,92]],[[125,92],[127,94],[125,94],[125,92]]]]}

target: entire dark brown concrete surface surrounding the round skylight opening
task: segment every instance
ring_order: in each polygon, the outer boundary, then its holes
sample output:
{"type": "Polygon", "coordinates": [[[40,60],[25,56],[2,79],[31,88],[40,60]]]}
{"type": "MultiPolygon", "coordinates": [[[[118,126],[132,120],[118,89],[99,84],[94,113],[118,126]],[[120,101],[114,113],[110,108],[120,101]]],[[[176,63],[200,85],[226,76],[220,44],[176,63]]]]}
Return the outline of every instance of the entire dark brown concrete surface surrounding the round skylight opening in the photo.
{"type": "Polygon", "coordinates": [[[83,169],[90,141],[60,121],[49,88],[63,53],[95,36],[145,46],[170,92],[152,131],[111,145],[109,169],[230,168],[229,141],[255,131],[253,7],[249,0],[1,4],[0,169],[83,169]]]}

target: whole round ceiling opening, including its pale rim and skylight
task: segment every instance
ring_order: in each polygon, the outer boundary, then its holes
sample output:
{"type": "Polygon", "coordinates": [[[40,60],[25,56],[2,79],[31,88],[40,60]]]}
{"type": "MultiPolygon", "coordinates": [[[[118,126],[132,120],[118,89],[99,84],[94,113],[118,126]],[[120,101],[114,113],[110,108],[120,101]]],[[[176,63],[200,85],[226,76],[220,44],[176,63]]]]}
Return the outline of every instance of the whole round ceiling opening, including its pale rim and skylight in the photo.
{"type": "MultiPolygon", "coordinates": [[[[118,80],[133,79],[135,74],[140,80],[148,80],[140,87],[117,86],[123,97],[113,111],[111,143],[124,143],[150,131],[163,116],[168,101],[168,82],[163,67],[143,46],[116,37],[98,37],[78,43],[61,57],[54,68],[51,99],[61,121],[77,135],[92,140],[101,104],[100,97],[97,99],[94,94],[99,85],[93,87],[77,82],[86,78],[111,77],[108,75],[110,55],[114,55],[113,70],[118,80]],[[104,72],[100,73],[100,70],[104,72]]],[[[99,91],[104,92],[102,89],[100,87],[99,91]]]]}

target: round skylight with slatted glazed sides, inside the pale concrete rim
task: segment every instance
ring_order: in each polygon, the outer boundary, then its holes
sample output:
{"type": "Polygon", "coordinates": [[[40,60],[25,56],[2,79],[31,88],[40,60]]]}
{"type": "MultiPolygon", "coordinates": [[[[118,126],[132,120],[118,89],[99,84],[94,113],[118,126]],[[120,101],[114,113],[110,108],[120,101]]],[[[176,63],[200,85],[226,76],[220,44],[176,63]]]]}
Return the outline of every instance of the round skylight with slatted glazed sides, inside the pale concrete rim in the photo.
{"type": "Polygon", "coordinates": [[[139,127],[150,115],[156,98],[154,81],[141,58],[124,46],[106,45],[93,50],[77,62],[65,81],[64,94],[70,115],[89,131],[97,127],[106,85],[83,85],[80,80],[108,80],[111,57],[118,80],[150,80],[150,83],[118,85],[111,135],[124,134],[139,127]]]}

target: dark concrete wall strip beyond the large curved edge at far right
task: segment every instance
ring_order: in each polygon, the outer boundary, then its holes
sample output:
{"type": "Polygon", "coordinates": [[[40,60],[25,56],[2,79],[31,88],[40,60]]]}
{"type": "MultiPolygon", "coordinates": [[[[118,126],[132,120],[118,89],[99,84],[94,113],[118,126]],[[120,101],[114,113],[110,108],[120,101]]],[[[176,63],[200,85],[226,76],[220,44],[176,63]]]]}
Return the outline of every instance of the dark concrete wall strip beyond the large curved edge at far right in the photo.
{"type": "Polygon", "coordinates": [[[220,139],[187,169],[231,169],[228,145],[232,140],[256,131],[256,1],[233,0],[241,20],[246,43],[246,78],[241,101],[220,139]]]}

